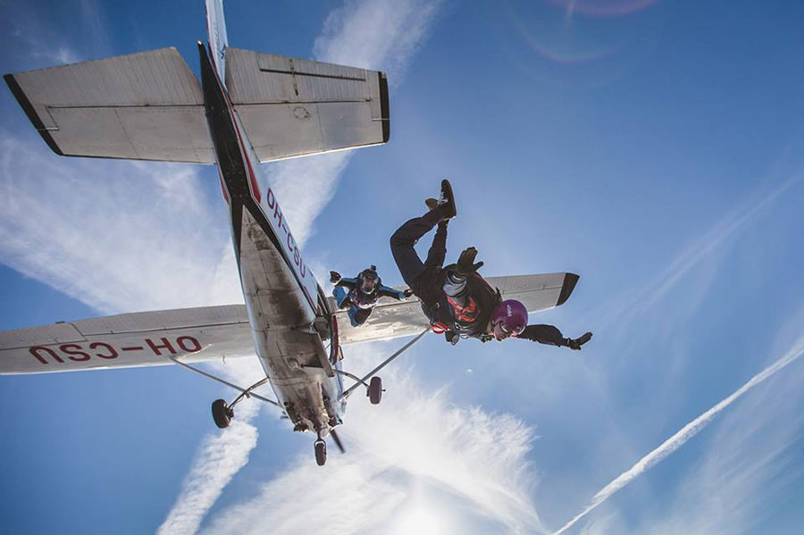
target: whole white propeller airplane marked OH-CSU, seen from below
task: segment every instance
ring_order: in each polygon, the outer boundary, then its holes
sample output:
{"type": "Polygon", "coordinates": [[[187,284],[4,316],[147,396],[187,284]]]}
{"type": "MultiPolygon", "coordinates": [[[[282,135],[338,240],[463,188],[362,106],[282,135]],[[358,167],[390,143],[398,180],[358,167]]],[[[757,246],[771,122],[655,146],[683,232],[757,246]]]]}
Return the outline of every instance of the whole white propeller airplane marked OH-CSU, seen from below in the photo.
{"type": "MultiPolygon", "coordinates": [[[[335,428],[347,398],[383,392],[377,375],[431,331],[415,298],[382,300],[352,327],[304,260],[280,200],[258,163],[387,143],[386,75],[230,47],[222,0],[206,0],[200,82],[173,48],[4,75],[56,155],[214,164],[230,215],[245,305],[123,313],[0,332],[0,374],[178,364],[239,392],[212,404],[226,428],[248,397],[275,405],[294,431],[343,451],[335,428]],[[363,377],[342,369],[342,347],[411,337],[363,377]],[[195,364],[256,355],[264,370],[243,388],[195,364]],[[345,388],[343,378],[354,380],[345,388]],[[274,399],[255,389],[269,383],[274,399]]],[[[487,278],[528,311],[562,305],[578,276],[557,272],[487,278]]]]}

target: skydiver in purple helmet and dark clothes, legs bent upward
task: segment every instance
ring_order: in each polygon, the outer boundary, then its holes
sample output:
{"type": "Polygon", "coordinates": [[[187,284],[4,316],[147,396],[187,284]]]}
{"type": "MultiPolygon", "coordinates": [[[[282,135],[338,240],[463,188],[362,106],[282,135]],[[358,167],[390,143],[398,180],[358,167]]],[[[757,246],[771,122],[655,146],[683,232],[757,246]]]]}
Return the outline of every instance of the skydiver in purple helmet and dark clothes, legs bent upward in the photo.
{"type": "Polygon", "coordinates": [[[441,181],[440,198],[424,201],[428,212],[401,227],[390,238],[391,254],[402,279],[422,303],[434,332],[444,333],[451,344],[462,338],[502,341],[514,337],[540,344],[580,350],[591,337],[565,338],[553,325],[528,325],[528,311],[515,299],[503,300],[496,288],[478,274],[477,249],[469,247],[457,263],[444,267],[447,225],[456,216],[455,196],[448,180],[441,181]],[[427,258],[422,262],[416,242],[437,227],[427,258]]]}

